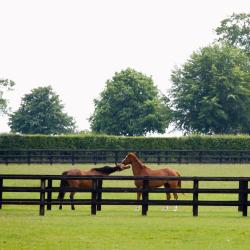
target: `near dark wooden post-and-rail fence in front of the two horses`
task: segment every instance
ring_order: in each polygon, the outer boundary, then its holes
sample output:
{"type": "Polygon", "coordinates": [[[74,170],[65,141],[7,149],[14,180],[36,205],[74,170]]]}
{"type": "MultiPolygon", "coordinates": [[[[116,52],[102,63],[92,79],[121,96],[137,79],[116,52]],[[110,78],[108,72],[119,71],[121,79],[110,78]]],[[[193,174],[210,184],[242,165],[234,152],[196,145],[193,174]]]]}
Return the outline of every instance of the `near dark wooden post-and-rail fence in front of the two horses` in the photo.
{"type": "MultiPolygon", "coordinates": [[[[75,191],[75,192],[88,192],[91,193],[91,199],[76,199],[73,204],[75,205],[90,205],[91,214],[96,214],[97,211],[101,210],[103,205],[141,205],[142,215],[146,215],[149,206],[159,206],[159,205],[180,205],[180,206],[192,206],[193,216],[198,216],[198,209],[200,206],[234,206],[238,207],[238,211],[242,212],[243,216],[247,216],[248,206],[250,202],[248,201],[249,187],[248,182],[250,177],[132,177],[132,176],[59,176],[59,175],[0,175],[0,208],[2,205],[37,205],[39,206],[40,215],[45,214],[45,208],[47,206],[48,210],[51,210],[51,206],[59,205],[59,200],[52,199],[52,193],[64,191],[75,191]],[[53,182],[62,179],[91,179],[92,188],[69,188],[58,186],[53,186],[53,182]],[[191,181],[193,183],[192,188],[182,188],[182,189],[171,189],[171,188],[149,188],[149,181],[155,179],[164,180],[182,180],[185,186],[186,181],[191,181]],[[29,186],[19,187],[19,186],[9,186],[8,180],[37,180],[40,185],[34,187],[34,183],[29,186]],[[131,187],[103,187],[102,183],[104,181],[134,181],[142,180],[143,188],[131,188],[131,187]],[[237,188],[200,188],[200,183],[204,181],[209,182],[236,182],[237,188]],[[6,184],[6,183],[7,184],[6,184]],[[39,199],[33,198],[5,198],[6,193],[39,193],[39,199]],[[103,199],[103,193],[137,193],[142,192],[142,200],[137,201],[134,199],[103,199]],[[176,192],[176,193],[191,193],[192,199],[189,200],[152,200],[149,198],[150,193],[165,193],[165,192],[176,192]],[[200,200],[199,195],[209,193],[209,194],[236,194],[236,200],[200,200]]],[[[234,185],[235,186],[235,185],[234,185]]],[[[20,195],[19,195],[20,196],[20,195]]],[[[134,194],[136,197],[136,195],[134,194]]],[[[7,196],[8,197],[8,196],[7,196]]],[[[70,205],[72,202],[70,200],[64,200],[63,205],[70,205]]]]}

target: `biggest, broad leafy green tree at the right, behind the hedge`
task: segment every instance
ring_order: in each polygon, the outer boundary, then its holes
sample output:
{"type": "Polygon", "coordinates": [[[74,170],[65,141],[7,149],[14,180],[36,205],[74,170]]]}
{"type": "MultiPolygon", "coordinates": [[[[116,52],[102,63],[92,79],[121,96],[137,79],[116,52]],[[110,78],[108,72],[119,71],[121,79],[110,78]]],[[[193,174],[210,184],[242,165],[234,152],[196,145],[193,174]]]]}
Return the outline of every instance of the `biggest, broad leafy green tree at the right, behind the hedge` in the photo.
{"type": "Polygon", "coordinates": [[[250,131],[250,58],[240,49],[205,47],[173,70],[171,79],[177,128],[210,134],[250,131]]]}

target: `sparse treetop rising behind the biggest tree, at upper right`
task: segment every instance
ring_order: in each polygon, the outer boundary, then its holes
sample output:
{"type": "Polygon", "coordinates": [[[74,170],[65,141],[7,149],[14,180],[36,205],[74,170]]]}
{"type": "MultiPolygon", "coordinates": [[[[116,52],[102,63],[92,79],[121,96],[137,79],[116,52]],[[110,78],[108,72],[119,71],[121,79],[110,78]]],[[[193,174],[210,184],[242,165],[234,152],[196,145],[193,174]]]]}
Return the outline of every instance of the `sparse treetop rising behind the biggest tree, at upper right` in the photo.
{"type": "Polygon", "coordinates": [[[222,20],[215,31],[219,41],[250,53],[250,13],[233,14],[222,20]]]}

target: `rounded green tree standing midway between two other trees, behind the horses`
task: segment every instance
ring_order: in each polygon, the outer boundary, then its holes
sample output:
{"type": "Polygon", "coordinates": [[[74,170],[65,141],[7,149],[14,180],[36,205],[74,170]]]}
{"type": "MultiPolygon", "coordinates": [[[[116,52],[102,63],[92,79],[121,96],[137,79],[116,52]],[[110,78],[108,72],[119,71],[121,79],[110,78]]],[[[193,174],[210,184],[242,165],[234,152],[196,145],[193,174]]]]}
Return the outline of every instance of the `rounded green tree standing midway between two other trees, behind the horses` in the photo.
{"type": "Polygon", "coordinates": [[[130,136],[164,133],[169,124],[167,99],[160,96],[151,77],[130,68],[115,73],[94,104],[90,123],[95,132],[130,136]]]}

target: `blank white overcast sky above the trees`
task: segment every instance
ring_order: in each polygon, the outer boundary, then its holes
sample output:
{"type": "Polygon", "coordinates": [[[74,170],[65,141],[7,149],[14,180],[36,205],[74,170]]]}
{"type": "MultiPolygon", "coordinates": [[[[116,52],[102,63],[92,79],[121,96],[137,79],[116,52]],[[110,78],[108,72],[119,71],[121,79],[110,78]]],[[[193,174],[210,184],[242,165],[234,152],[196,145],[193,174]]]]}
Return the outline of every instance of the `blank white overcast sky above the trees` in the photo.
{"type": "MultiPolygon", "coordinates": [[[[15,81],[15,111],[24,94],[51,85],[79,130],[115,72],[131,67],[170,88],[170,73],[216,38],[249,0],[0,0],[0,78],[15,81]]],[[[8,132],[0,117],[0,132],[8,132]]]]}

